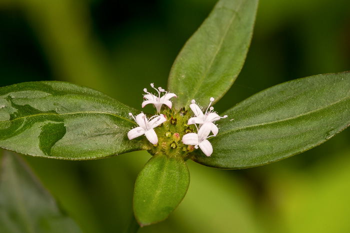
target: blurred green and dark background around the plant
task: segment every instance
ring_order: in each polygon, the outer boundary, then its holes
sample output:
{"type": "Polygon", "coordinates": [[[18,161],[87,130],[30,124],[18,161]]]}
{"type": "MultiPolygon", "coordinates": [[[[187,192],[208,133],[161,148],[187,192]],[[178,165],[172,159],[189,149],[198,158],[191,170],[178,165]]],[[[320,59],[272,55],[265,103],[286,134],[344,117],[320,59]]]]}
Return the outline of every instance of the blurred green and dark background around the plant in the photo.
{"type": "MultiPolygon", "coordinates": [[[[142,89],[166,86],[174,58],[214,4],[0,0],[0,86],[70,81],[141,110],[142,89]]],[[[261,0],[246,63],[215,109],[290,79],[350,70],[349,12],[348,0],[261,0]]],[[[302,154],[244,170],[188,161],[182,203],[139,232],[350,232],[349,141],[346,129],[302,154]]],[[[144,151],[89,161],[25,156],[88,233],[122,232],[149,158],[144,151]]]]}

